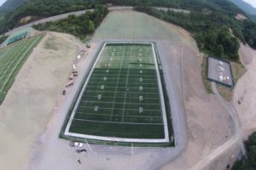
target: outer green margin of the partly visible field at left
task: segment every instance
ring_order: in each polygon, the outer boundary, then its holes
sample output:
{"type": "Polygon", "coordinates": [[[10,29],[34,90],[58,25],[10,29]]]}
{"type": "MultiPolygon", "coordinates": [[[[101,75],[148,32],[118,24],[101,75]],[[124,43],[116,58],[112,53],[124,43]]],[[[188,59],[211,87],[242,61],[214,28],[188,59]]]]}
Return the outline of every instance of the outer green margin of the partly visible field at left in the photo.
{"type": "MultiPolygon", "coordinates": [[[[44,38],[44,36],[45,36],[45,33],[35,36],[35,37],[40,37],[40,38],[39,38],[38,41],[32,46],[32,48],[30,48],[29,51],[26,52],[26,57],[24,57],[24,59],[20,60],[20,64],[16,66],[15,71],[12,73],[12,77],[16,77],[16,76],[18,75],[18,73],[19,73],[21,67],[25,64],[26,59],[29,57],[30,54],[32,54],[32,50],[33,50],[35,47],[38,46],[38,43],[42,41],[42,39],[44,38]]],[[[29,37],[29,38],[32,38],[32,37],[29,37]]],[[[26,41],[28,41],[29,38],[28,38],[26,41]]],[[[21,40],[21,41],[22,41],[22,40],[21,40]]],[[[19,42],[20,42],[20,41],[19,41],[19,42]]],[[[12,43],[11,45],[14,45],[14,44],[15,44],[15,42],[12,43]]],[[[3,101],[4,101],[6,95],[8,94],[9,89],[11,88],[11,86],[13,85],[14,82],[15,82],[15,78],[12,78],[9,82],[7,82],[7,84],[5,85],[5,87],[7,87],[7,88],[4,87],[4,88],[6,89],[6,92],[7,92],[6,94],[0,93],[0,105],[3,104],[3,101]]]]}

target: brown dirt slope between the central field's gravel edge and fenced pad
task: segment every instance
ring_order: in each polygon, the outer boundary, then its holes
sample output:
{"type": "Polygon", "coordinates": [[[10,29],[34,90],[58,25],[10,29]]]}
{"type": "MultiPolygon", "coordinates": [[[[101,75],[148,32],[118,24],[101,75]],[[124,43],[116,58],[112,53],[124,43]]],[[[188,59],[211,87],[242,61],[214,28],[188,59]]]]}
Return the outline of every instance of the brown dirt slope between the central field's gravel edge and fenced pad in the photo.
{"type": "MultiPolygon", "coordinates": [[[[186,150],[163,169],[224,169],[230,160],[218,162],[233,141],[233,123],[228,111],[213,94],[207,94],[201,80],[201,56],[197,50],[184,51],[183,99],[188,123],[189,142],[186,150]],[[228,161],[228,162],[227,162],[228,161]]],[[[236,144],[236,142],[235,142],[236,144]]],[[[231,150],[236,155],[239,150],[231,150]]],[[[230,156],[232,154],[230,153],[230,156]]],[[[231,162],[232,162],[231,161],[231,162]]]]}

